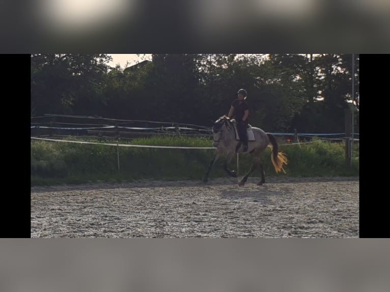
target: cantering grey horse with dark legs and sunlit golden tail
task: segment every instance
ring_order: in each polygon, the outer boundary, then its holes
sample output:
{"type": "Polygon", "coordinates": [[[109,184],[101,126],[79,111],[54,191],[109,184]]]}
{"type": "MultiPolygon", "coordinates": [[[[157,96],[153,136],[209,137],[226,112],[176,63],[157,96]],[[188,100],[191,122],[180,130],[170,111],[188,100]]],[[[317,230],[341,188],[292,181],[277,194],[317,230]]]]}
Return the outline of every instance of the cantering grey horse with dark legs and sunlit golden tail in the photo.
{"type": "MultiPolygon", "coordinates": [[[[255,169],[260,167],[261,181],[257,185],[261,186],[265,183],[265,174],[263,164],[260,161],[260,156],[267,147],[272,148],[271,161],[276,173],[280,171],[286,173],[284,166],[287,165],[288,160],[283,152],[278,151],[278,144],[272,134],[266,133],[262,129],[252,127],[250,125],[249,128],[253,131],[254,139],[252,138],[248,140],[247,153],[253,156],[253,161],[250,170],[245,174],[245,176],[238,184],[243,186],[248,179],[248,176],[252,174],[255,169]]],[[[222,163],[222,167],[229,174],[229,176],[237,178],[237,173],[234,170],[228,169],[228,163],[232,160],[233,155],[243,152],[243,147],[241,147],[242,143],[236,138],[235,120],[231,120],[228,116],[223,115],[214,122],[211,131],[214,140],[213,147],[215,147],[216,150],[215,155],[209,164],[207,172],[203,177],[203,181],[208,181],[211,168],[213,167],[215,161],[218,160],[222,154],[227,154],[227,159],[224,163],[222,163]]]]}

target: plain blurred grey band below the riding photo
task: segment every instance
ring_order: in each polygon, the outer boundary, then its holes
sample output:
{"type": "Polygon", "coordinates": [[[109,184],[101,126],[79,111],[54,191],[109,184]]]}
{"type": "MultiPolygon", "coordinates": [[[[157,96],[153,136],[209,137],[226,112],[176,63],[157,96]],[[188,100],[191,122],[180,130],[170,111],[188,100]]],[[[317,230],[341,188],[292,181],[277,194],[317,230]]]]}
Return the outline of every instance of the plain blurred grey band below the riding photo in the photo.
{"type": "Polygon", "coordinates": [[[385,292],[387,239],[2,239],[0,290],[385,292]]]}

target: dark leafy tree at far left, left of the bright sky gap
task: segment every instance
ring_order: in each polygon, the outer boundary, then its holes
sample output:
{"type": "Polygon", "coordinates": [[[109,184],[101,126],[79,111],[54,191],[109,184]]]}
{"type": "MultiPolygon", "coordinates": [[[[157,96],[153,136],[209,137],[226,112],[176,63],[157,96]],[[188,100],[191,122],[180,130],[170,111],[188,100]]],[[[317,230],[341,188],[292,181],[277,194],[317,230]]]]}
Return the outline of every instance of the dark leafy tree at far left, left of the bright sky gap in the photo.
{"type": "Polygon", "coordinates": [[[32,114],[96,110],[110,60],[106,54],[32,54],[32,114]]]}

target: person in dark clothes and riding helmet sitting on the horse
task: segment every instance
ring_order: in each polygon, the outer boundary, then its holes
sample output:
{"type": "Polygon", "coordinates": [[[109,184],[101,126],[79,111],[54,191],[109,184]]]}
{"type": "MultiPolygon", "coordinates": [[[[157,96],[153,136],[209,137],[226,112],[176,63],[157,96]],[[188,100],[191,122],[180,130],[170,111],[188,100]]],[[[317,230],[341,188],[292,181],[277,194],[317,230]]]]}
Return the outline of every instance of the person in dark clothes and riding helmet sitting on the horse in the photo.
{"type": "Polygon", "coordinates": [[[237,132],[241,142],[244,144],[243,152],[246,152],[248,151],[248,135],[246,133],[246,128],[248,127],[249,104],[245,101],[247,95],[246,90],[240,89],[237,94],[238,99],[233,101],[228,116],[229,118],[232,118],[234,112],[234,117],[237,122],[237,132]]]}

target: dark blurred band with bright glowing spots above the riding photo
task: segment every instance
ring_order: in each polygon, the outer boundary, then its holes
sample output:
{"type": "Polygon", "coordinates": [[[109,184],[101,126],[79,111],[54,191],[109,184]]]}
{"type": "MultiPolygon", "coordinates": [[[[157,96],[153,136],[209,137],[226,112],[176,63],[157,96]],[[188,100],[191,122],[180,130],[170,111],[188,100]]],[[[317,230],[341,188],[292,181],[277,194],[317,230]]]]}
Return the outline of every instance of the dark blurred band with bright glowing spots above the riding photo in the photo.
{"type": "Polygon", "coordinates": [[[0,37],[10,53],[380,53],[390,47],[389,14],[385,0],[15,1],[2,4],[0,37]]]}

